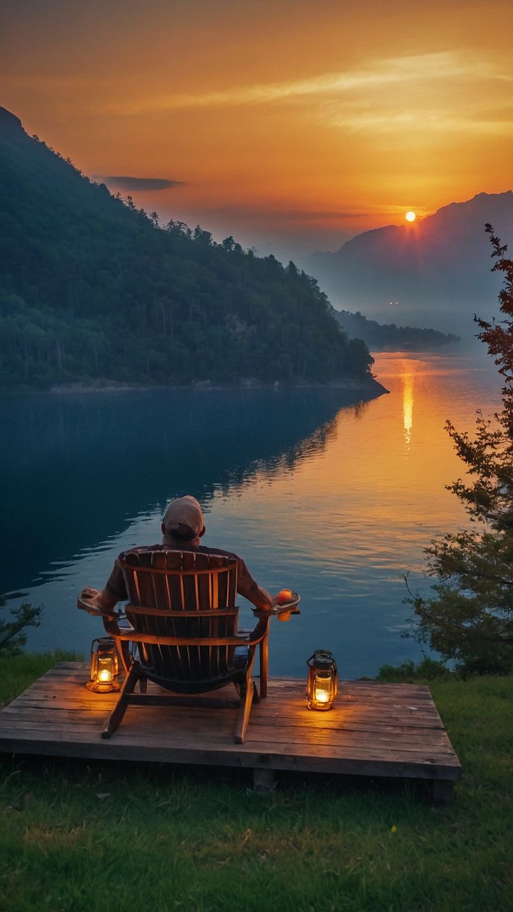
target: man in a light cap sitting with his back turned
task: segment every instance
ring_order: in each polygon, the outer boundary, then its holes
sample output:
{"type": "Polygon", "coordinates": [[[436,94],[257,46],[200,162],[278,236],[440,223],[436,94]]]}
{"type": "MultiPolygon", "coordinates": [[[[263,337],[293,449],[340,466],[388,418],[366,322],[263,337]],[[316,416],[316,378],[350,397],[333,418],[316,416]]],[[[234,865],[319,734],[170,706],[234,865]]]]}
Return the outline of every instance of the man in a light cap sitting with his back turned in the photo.
{"type": "MultiPolygon", "coordinates": [[[[203,513],[195,497],[188,494],[169,503],[161,525],[162,544],[150,544],[143,548],[130,550],[141,551],[192,551],[199,554],[221,554],[237,558],[237,592],[247,598],[260,611],[270,611],[272,597],[252,578],[244,561],[237,554],[221,551],[218,548],[206,548],[200,545],[200,538],[205,534],[203,513]]],[[[86,586],[81,593],[92,607],[97,607],[102,614],[112,613],[118,602],[128,598],[123,571],[116,560],[112,573],[105,587],[99,592],[86,586]]]]}

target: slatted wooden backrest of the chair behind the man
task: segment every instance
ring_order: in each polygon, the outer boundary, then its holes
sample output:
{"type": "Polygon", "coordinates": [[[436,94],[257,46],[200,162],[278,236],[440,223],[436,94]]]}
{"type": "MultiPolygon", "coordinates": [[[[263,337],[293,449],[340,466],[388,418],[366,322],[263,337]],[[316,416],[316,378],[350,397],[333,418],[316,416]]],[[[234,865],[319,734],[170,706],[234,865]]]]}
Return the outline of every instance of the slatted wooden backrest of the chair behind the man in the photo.
{"type": "MultiPolygon", "coordinates": [[[[221,638],[236,633],[236,558],[159,550],[131,551],[120,559],[130,601],[127,617],[139,634],[221,638]]],[[[233,652],[228,645],[139,644],[145,666],[162,679],[180,682],[221,679],[233,652]]]]}

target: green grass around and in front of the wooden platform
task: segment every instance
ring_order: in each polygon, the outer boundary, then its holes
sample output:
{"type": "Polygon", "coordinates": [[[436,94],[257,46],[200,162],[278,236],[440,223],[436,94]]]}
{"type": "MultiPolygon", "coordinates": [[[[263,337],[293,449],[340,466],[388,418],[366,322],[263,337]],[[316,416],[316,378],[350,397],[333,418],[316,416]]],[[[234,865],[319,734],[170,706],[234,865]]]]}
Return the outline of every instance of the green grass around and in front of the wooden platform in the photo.
{"type": "MultiPolygon", "coordinates": [[[[9,668],[21,689],[54,661],[9,668]]],[[[243,772],[5,758],[0,909],[510,910],[513,679],[430,687],[465,772],[444,809],[409,782],[297,775],[263,798],[243,772]]]]}

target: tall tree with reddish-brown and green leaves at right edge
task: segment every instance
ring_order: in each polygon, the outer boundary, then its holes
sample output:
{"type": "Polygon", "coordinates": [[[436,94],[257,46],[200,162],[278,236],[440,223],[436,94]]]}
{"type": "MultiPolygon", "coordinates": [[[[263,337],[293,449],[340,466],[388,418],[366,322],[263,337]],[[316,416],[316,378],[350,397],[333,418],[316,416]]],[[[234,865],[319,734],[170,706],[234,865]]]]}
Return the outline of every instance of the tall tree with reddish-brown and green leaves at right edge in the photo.
{"type": "Polygon", "coordinates": [[[504,273],[500,311],[504,319],[477,318],[478,338],[504,379],[502,409],[492,418],[477,411],[471,437],[451,421],[446,429],[467,478],[447,486],[465,505],[477,528],[448,533],[426,549],[428,572],[438,580],[433,595],[418,594],[416,637],[466,671],[509,673],[513,668],[513,261],[491,225],[486,225],[504,273]]]}

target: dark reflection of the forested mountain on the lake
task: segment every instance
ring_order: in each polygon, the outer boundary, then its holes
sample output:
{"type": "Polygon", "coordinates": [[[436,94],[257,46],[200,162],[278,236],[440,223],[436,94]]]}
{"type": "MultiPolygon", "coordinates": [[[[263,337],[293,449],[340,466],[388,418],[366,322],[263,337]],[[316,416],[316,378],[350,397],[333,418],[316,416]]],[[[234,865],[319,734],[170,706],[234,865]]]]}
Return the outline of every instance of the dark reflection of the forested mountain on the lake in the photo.
{"type": "Polygon", "coordinates": [[[3,578],[28,586],[52,562],[190,492],[208,506],[254,472],[323,450],[354,393],[159,390],[0,402],[3,578]]]}

